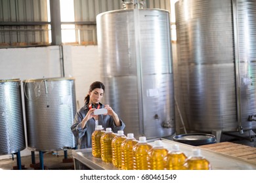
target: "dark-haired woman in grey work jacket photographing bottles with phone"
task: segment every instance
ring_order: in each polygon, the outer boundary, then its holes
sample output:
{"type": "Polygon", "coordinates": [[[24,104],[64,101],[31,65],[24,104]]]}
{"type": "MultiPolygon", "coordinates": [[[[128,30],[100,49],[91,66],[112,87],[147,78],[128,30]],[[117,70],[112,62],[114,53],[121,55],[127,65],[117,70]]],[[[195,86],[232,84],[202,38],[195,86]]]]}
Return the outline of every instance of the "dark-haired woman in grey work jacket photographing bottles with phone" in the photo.
{"type": "Polygon", "coordinates": [[[72,133],[78,139],[78,148],[91,148],[91,135],[95,131],[96,125],[102,125],[104,129],[111,127],[114,133],[123,130],[125,124],[116,112],[109,105],[102,105],[100,100],[104,95],[104,84],[102,82],[93,82],[89,88],[89,93],[85,97],[85,105],[77,110],[72,133]],[[98,108],[106,108],[106,114],[94,115],[93,111],[98,108]]]}

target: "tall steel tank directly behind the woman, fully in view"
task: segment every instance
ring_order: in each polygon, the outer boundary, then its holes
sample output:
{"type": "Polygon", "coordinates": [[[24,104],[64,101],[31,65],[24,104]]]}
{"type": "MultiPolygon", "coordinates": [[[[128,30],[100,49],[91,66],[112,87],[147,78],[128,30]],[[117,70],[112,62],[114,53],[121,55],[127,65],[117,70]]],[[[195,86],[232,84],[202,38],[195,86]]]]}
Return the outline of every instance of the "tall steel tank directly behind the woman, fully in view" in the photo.
{"type": "Polygon", "coordinates": [[[96,17],[105,102],[136,138],[175,133],[169,12],[132,8],[96,17]]]}

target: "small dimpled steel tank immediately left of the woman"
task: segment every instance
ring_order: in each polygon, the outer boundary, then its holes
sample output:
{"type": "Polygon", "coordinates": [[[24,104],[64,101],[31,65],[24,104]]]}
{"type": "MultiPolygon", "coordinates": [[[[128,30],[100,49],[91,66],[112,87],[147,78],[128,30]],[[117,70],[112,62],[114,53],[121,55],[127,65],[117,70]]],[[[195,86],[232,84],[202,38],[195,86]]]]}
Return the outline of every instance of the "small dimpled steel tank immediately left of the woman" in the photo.
{"type": "Polygon", "coordinates": [[[23,82],[28,148],[42,152],[74,148],[77,140],[70,130],[76,112],[74,78],[23,82]]]}

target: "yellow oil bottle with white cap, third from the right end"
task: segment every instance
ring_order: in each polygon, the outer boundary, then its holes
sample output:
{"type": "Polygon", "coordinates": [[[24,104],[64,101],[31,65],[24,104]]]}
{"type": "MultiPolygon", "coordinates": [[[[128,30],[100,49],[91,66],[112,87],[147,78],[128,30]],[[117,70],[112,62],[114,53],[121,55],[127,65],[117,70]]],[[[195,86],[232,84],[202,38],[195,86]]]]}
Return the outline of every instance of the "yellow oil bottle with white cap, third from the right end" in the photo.
{"type": "Polygon", "coordinates": [[[164,158],[167,156],[168,150],[163,147],[161,140],[154,141],[154,146],[148,152],[147,161],[148,169],[164,170],[166,165],[164,158]]]}

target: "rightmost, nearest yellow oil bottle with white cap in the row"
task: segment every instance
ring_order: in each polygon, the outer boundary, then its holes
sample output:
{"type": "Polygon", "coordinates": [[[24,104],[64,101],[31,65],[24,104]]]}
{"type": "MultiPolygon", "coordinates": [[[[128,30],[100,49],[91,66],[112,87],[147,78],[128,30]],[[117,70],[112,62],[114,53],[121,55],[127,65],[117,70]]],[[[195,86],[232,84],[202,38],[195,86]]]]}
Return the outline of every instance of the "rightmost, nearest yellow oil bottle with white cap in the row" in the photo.
{"type": "Polygon", "coordinates": [[[192,150],[192,156],[186,160],[184,167],[188,170],[211,170],[211,164],[202,156],[200,149],[192,150]]]}

